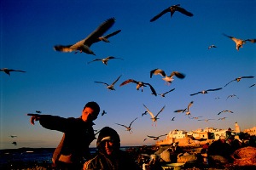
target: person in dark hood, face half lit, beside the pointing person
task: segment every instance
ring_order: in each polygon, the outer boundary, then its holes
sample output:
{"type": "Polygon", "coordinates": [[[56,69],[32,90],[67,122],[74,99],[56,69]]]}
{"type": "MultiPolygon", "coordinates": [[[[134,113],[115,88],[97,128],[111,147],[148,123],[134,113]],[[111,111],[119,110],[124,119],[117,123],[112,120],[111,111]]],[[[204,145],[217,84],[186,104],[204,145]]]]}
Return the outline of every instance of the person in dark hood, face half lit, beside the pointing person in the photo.
{"type": "Polygon", "coordinates": [[[84,170],[137,170],[140,169],[131,156],[120,150],[119,134],[111,127],[103,127],[99,133],[96,147],[98,153],[84,163],[84,170]]]}

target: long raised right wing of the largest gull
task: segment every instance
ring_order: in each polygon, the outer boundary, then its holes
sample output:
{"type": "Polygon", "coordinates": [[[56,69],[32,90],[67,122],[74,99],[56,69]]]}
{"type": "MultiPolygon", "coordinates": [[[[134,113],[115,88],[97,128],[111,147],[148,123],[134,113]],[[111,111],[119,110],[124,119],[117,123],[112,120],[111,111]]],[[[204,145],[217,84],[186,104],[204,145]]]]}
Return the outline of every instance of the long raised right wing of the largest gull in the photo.
{"type": "Polygon", "coordinates": [[[84,40],[81,40],[80,42],[75,43],[74,45],[81,45],[81,43],[84,43],[84,45],[87,45],[90,47],[92,43],[99,42],[98,37],[102,37],[102,35],[108,31],[108,29],[113,26],[115,19],[110,18],[108,20],[105,20],[100,26],[96,28],[95,31],[92,31],[89,36],[84,38],[84,40]]]}

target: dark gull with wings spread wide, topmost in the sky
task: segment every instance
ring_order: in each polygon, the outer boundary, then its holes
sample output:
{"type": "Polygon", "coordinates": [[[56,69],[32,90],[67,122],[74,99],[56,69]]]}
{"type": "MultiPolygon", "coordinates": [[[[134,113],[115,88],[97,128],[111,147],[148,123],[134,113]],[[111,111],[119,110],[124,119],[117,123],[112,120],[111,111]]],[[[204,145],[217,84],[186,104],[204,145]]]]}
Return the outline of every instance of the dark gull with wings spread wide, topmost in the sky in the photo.
{"type": "Polygon", "coordinates": [[[190,13],[189,11],[187,11],[186,9],[184,8],[181,8],[180,7],[180,4],[177,4],[177,5],[172,5],[171,7],[168,7],[164,10],[162,10],[160,12],[160,14],[156,14],[151,20],[150,22],[153,22],[154,20],[158,20],[162,15],[166,14],[166,13],[171,13],[171,18],[172,18],[172,15],[175,13],[175,11],[178,11],[182,14],[185,14],[187,16],[193,16],[194,14],[190,13]]]}

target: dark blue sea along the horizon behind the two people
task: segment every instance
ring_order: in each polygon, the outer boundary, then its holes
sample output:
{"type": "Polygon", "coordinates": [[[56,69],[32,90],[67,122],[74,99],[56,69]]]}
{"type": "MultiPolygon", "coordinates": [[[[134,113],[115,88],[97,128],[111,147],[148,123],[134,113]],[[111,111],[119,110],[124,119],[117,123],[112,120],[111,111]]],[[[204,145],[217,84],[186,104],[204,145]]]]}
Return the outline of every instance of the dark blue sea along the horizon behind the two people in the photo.
{"type": "MultiPolygon", "coordinates": [[[[122,146],[121,150],[137,146],[122,146]]],[[[46,165],[51,164],[51,158],[55,148],[18,148],[0,150],[0,169],[6,165],[46,165]]],[[[90,148],[90,153],[93,155],[97,151],[96,148],[90,148]]]]}

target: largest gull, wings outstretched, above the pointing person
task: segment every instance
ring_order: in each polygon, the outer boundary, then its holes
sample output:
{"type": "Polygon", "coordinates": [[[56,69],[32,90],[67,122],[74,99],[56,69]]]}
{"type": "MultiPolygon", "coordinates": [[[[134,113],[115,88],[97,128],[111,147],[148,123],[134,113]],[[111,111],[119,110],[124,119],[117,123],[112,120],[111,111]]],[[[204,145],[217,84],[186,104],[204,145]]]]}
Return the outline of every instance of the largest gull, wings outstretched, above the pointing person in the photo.
{"type": "MultiPolygon", "coordinates": [[[[84,52],[86,54],[94,54],[94,52],[90,49],[90,46],[95,43],[101,41],[100,37],[108,31],[108,29],[113,26],[115,19],[110,18],[106,21],[104,21],[100,26],[96,28],[95,31],[92,31],[88,37],[85,37],[83,40],[76,42],[73,45],[55,45],[54,49],[55,51],[60,52],[73,52],[77,53],[78,51],[80,53],[84,52]]],[[[102,38],[104,39],[104,38],[102,38]]]]}

